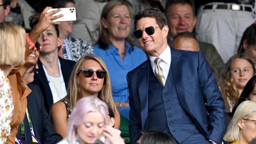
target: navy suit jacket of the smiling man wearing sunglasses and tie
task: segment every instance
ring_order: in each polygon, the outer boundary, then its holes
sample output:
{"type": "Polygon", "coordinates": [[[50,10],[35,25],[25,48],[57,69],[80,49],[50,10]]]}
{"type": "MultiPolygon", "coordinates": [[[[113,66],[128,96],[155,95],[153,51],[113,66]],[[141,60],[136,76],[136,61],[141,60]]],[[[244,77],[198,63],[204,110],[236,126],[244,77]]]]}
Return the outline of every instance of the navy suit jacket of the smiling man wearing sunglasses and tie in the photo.
{"type": "MultiPolygon", "coordinates": [[[[149,66],[148,59],[127,74],[131,144],[139,139],[140,131],[145,130],[148,123],[149,66]]],[[[225,128],[226,109],[215,75],[202,53],[171,48],[171,67],[182,108],[206,138],[220,144],[225,128]]],[[[182,131],[178,133],[182,135],[182,131]]]]}

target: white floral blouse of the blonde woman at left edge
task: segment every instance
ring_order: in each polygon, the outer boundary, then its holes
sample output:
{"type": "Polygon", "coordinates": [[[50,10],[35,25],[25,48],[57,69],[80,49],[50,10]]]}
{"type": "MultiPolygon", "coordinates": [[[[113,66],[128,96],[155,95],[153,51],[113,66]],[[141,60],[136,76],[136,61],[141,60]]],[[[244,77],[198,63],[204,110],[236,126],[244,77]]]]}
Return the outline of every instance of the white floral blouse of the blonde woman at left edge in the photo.
{"type": "Polygon", "coordinates": [[[7,137],[10,135],[11,117],[13,115],[13,98],[11,95],[11,86],[9,79],[0,70],[0,143],[5,144],[7,137]]]}

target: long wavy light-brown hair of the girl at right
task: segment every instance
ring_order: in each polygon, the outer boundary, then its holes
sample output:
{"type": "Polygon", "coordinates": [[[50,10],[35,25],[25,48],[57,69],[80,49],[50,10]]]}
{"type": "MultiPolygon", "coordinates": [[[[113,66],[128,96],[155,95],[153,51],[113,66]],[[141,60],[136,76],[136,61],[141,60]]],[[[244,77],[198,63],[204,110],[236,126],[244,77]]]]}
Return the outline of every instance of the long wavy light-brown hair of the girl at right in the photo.
{"type": "Polygon", "coordinates": [[[251,65],[253,69],[253,76],[255,75],[255,68],[254,68],[254,62],[245,54],[235,54],[230,59],[228,59],[228,62],[226,63],[226,70],[223,74],[223,83],[221,85],[222,88],[222,94],[226,96],[232,105],[236,103],[236,101],[239,99],[240,95],[239,92],[234,85],[233,78],[232,78],[232,65],[234,63],[235,59],[245,59],[247,60],[251,65]]]}

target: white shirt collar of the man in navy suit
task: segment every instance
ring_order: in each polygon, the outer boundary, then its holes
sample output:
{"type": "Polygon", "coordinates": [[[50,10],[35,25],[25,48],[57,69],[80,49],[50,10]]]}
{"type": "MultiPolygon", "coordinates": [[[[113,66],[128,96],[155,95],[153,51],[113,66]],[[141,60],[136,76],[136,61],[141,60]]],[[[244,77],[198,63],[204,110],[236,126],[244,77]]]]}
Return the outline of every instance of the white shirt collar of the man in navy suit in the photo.
{"type": "MultiPolygon", "coordinates": [[[[154,67],[154,61],[157,57],[153,57],[151,55],[148,55],[148,57],[150,59],[150,64],[153,68],[154,67]]],[[[169,46],[167,46],[167,48],[165,48],[165,50],[162,52],[162,54],[159,55],[159,58],[161,58],[168,65],[171,65],[171,49],[170,49],[169,46]]]]}

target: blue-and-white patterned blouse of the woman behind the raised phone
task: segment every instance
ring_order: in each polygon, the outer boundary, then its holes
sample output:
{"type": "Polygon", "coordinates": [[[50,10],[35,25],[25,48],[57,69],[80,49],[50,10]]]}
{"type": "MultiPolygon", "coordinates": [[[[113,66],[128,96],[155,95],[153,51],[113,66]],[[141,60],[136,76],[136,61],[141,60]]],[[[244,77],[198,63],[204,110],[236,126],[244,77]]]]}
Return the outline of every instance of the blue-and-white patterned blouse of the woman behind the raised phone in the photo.
{"type": "MultiPolygon", "coordinates": [[[[91,54],[91,55],[93,54],[93,47],[82,39],[76,39],[74,37],[66,37],[65,41],[69,46],[69,52],[72,58],[70,60],[78,61],[80,57],[82,57],[82,55],[84,54],[91,54]]],[[[63,58],[68,59],[68,54],[67,54],[65,44],[63,44],[62,48],[63,48],[63,58]]]]}

